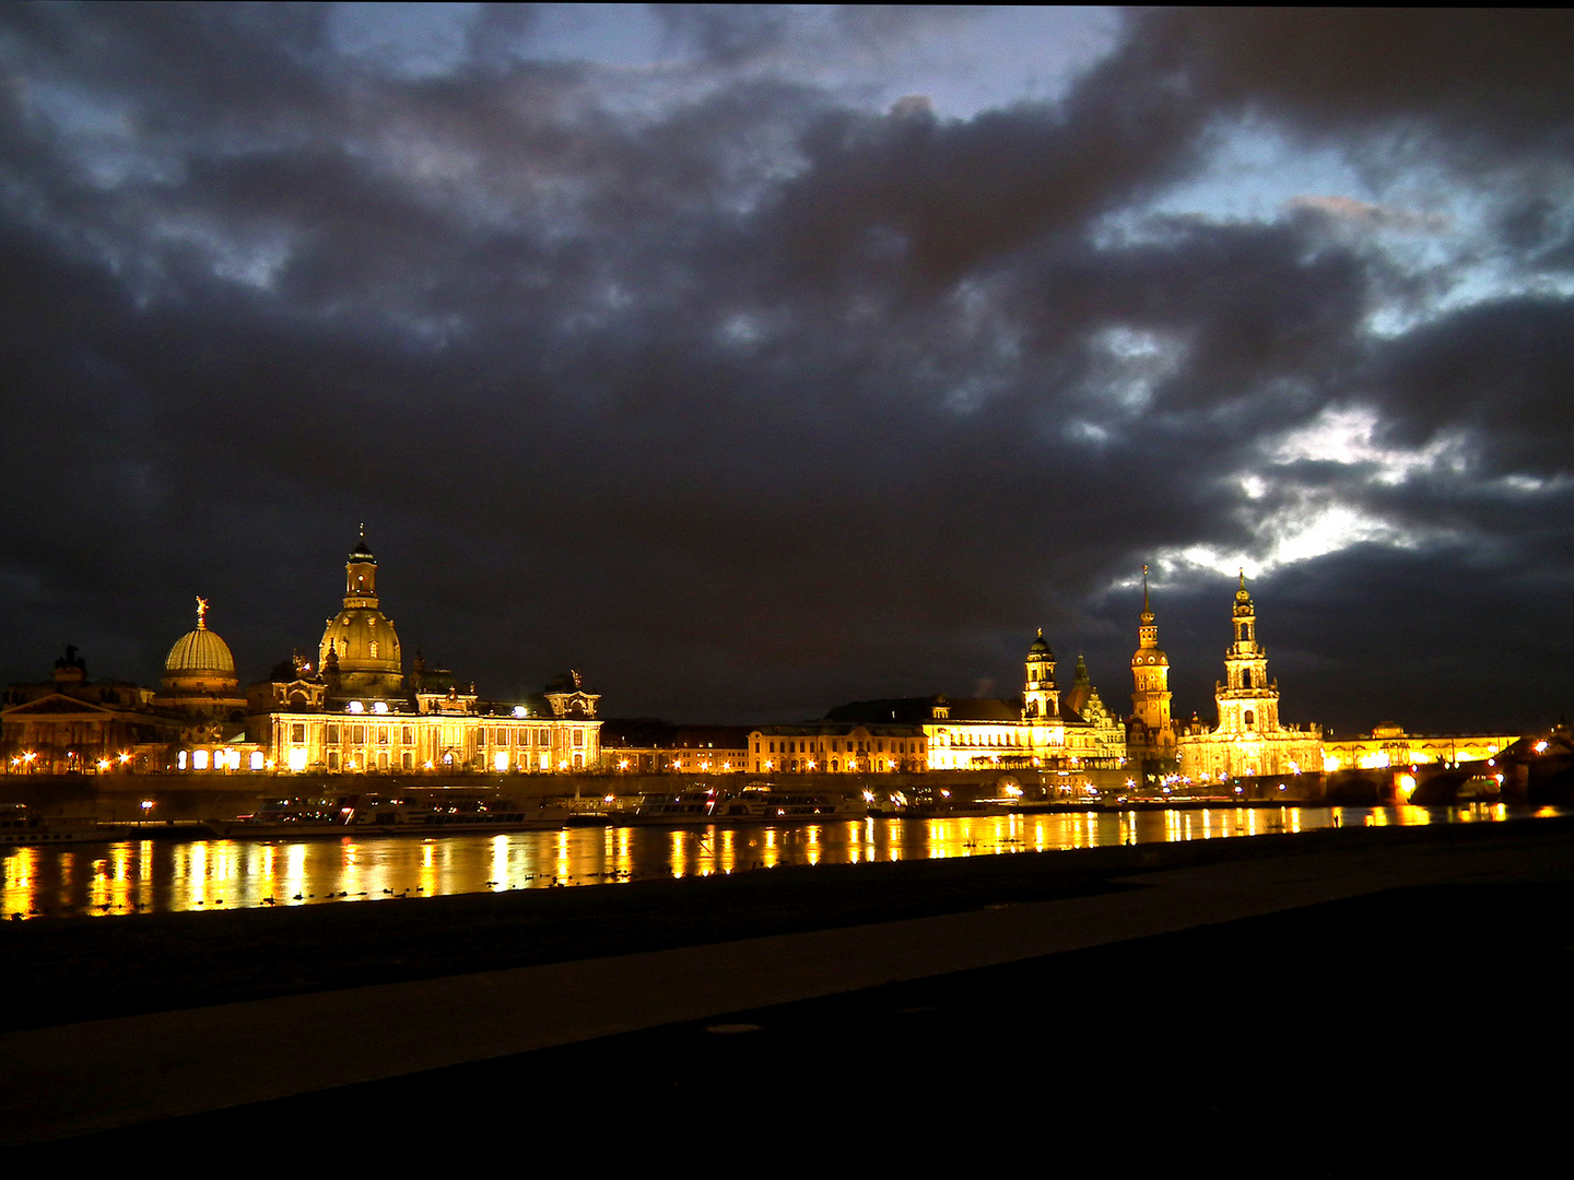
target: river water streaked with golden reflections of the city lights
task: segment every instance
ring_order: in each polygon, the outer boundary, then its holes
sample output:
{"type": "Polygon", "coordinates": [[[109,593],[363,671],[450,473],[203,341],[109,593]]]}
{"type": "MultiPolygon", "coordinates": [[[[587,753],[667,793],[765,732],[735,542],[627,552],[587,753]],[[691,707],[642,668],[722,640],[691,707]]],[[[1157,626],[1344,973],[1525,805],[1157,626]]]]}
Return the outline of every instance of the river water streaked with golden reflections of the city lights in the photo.
{"type": "MultiPolygon", "coordinates": [[[[1561,813],[1543,807],[1536,815],[1561,813]]],[[[737,828],[565,828],[431,840],[123,840],[13,848],[0,914],[127,914],[431,897],[771,868],[1100,848],[1299,832],[1335,824],[1480,823],[1530,815],[1469,807],[1218,807],[839,820],[737,828]]]]}

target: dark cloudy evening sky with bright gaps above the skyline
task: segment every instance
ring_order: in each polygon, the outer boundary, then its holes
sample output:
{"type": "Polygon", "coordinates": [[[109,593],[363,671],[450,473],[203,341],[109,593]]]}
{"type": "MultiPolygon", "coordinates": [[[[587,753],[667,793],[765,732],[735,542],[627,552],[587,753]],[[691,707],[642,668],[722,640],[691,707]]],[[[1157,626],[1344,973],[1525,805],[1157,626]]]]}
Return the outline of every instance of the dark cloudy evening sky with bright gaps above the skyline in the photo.
{"type": "Polygon", "coordinates": [[[0,8],[0,678],[1574,705],[1568,13],[0,8]]]}

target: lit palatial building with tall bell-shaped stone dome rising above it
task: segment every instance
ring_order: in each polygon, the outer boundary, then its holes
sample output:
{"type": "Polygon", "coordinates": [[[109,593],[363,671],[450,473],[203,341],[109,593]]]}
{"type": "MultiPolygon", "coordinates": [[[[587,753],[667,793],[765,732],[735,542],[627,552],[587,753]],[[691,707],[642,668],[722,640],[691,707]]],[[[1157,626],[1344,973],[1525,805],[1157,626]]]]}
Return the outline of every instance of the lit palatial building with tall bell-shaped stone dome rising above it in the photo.
{"type": "Polygon", "coordinates": [[[323,628],[318,670],[299,659],[282,670],[253,688],[247,719],[274,771],[549,774],[601,761],[600,697],[578,672],[518,702],[483,702],[420,656],[406,681],[365,533],[345,563],[343,609],[323,628]]]}

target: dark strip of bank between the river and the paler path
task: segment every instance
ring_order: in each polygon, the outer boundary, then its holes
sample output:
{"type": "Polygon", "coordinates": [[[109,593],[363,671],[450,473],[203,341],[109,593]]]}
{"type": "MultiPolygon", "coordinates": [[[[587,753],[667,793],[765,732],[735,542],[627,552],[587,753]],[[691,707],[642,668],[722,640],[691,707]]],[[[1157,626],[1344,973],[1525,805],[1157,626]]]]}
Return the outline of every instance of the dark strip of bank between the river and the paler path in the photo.
{"type": "Polygon", "coordinates": [[[1574,817],[5,922],[0,1029],[1086,897],[1130,887],[1118,878],[1166,868],[1295,856],[1316,873],[1317,854],[1332,850],[1447,850],[1530,835],[1566,837],[1574,850],[1574,817]]]}

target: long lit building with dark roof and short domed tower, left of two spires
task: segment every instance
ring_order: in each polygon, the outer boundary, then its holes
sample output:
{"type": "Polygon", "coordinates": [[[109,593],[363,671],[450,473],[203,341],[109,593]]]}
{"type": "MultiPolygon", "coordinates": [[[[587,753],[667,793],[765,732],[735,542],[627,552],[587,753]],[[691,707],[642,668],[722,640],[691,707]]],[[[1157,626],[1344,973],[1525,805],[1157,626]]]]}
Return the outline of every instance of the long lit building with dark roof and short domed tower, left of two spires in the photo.
{"type": "MultiPolygon", "coordinates": [[[[933,771],[1113,769],[1125,763],[1125,730],[1099,699],[1081,656],[1072,689],[1061,694],[1055,653],[1039,631],[1028,648],[1025,672],[1017,700],[944,695],[864,700],[831,710],[826,721],[916,727],[924,765],[933,771]]],[[[889,765],[896,760],[886,761],[885,769],[897,769],[889,765]]]]}

